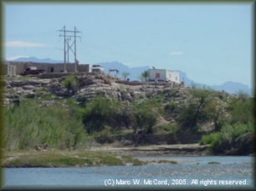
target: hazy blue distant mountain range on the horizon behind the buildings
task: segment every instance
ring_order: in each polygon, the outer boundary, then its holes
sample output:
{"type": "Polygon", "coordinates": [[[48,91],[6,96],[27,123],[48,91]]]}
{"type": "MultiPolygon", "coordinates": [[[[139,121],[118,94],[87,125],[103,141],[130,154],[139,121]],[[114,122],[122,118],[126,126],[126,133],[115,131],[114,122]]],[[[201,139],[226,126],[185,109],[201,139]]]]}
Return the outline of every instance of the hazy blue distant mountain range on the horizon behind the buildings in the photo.
{"type": "MultiPolygon", "coordinates": [[[[63,63],[63,61],[60,60],[52,60],[50,58],[45,58],[45,59],[38,59],[34,57],[29,57],[29,58],[17,58],[13,61],[17,62],[34,62],[34,63],[63,63]]],[[[123,63],[119,63],[117,61],[115,62],[105,62],[105,63],[93,63],[93,64],[100,64],[105,68],[105,73],[109,73],[109,69],[117,69],[120,71],[120,73],[112,73],[116,75],[117,77],[121,78],[121,73],[122,72],[127,72],[130,73],[129,77],[131,80],[138,80],[139,76],[142,72],[145,70],[148,70],[150,67],[149,66],[144,66],[144,67],[133,67],[130,68],[123,63]]],[[[213,85],[213,86],[207,86],[207,84],[204,83],[196,83],[193,82],[191,79],[187,78],[187,74],[180,71],[176,70],[178,73],[180,73],[180,81],[185,83],[186,87],[191,87],[192,84],[197,85],[197,87],[206,87],[206,88],[212,88],[217,91],[222,91],[224,90],[227,93],[238,93],[238,91],[243,91],[245,93],[248,93],[250,96],[253,95],[253,91],[251,88],[248,87],[248,85],[245,85],[243,83],[236,83],[236,82],[226,82],[223,83],[222,85],[213,85]]]]}

